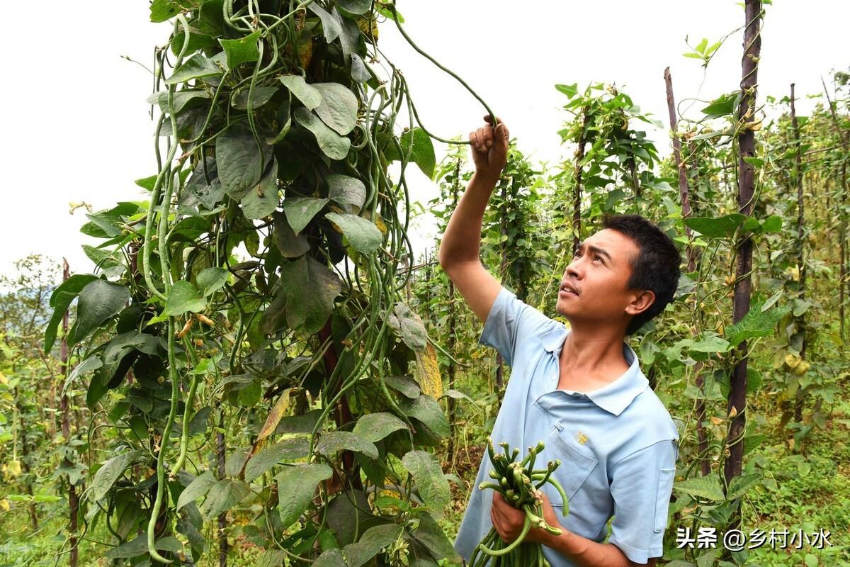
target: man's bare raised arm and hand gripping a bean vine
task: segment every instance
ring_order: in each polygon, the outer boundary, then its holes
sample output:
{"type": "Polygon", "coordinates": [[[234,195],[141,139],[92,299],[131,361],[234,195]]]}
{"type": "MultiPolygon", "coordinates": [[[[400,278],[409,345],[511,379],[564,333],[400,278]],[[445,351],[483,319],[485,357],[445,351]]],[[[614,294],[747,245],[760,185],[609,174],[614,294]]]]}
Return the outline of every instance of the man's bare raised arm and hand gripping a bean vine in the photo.
{"type": "Polygon", "coordinates": [[[482,321],[487,320],[501,284],[481,264],[481,224],[490,194],[507,162],[509,135],[498,118],[495,129],[490,116],[484,116],[484,120],[488,122],[486,126],[469,133],[475,173],[445,227],[438,255],[439,265],[482,321]]]}

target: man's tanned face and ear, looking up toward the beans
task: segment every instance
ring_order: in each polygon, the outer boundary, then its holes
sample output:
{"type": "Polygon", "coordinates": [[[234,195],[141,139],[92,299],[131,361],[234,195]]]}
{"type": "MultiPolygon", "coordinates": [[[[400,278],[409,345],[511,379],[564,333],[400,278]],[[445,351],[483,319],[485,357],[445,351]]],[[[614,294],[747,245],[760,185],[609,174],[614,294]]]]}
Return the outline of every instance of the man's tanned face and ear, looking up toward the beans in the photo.
{"type": "MultiPolygon", "coordinates": [[[[555,309],[574,326],[576,323],[626,322],[649,307],[648,298],[626,286],[632,275],[632,258],[640,249],[635,241],[617,230],[600,230],[579,243],[578,250],[561,278],[555,309]],[[635,301],[638,305],[635,305],[635,301]],[[647,303],[640,307],[643,303],[647,303]],[[631,306],[631,307],[630,307],[631,306]]],[[[649,292],[651,295],[651,292],[649,292]]],[[[655,299],[652,296],[649,299],[655,299]]]]}

